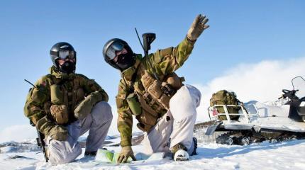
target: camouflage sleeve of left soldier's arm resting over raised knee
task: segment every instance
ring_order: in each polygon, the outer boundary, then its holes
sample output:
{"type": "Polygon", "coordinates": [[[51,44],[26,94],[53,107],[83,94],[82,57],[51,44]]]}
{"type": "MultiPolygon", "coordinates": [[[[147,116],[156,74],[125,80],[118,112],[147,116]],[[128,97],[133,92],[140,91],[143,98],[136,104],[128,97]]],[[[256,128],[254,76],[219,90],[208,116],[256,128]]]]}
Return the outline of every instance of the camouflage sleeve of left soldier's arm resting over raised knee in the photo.
{"type": "Polygon", "coordinates": [[[82,77],[81,86],[84,88],[84,92],[87,95],[96,95],[96,98],[101,98],[101,101],[108,102],[108,94],[96,83],[96,81],[94,81],[94,79],[88,79],[84,75],[79,75],[82,77]],[[95,91],[99,91],[99,93],[94,93],[95,91]]]}

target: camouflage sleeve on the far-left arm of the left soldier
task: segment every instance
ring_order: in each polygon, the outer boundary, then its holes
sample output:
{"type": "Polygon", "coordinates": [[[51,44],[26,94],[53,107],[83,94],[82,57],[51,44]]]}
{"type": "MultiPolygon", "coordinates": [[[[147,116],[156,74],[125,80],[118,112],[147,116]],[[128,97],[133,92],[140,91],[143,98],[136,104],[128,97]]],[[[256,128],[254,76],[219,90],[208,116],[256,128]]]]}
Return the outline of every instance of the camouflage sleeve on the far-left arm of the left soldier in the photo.
{"type": "Polygon", "coordinates": [[[50,84],[47,79],[40,79],[35,83],[35,88],[30,90],[24,106],[24,114],[44,135],[55,126],[55,122],[48,117],[45,108],[50,101],[50,84]]]}

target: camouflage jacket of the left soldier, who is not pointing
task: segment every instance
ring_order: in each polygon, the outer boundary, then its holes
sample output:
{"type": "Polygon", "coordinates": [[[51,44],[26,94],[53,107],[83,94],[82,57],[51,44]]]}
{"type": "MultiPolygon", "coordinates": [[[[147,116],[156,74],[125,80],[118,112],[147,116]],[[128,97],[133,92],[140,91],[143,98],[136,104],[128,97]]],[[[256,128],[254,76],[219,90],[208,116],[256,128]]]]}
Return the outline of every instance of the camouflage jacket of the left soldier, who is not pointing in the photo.
{"type": "Polygon", "coordinates": [[[108,101],[106,92],[93,79],[88,79],[82,74],[60,73],[52,66],[50,74],[40,78],[35,83],[35,88],[30,89],[24,106],[24,114],[36,125],[40,132],[48,135],[48,132],[57,125],[50,115],[50,106],[53,104],[67,106],[69,123],[71,123],[76,120],[74,118],[74,108],[84,100],[85,96],[93,93],[100,95],[102,101],[108,101]],[[60,89],[64,93],[62,103],[56,103],[51,99],[51,86],[54,84],[60,85],[60,89]],[[99,91],[99,93],[94,93],[94,91],[99,91]]]}

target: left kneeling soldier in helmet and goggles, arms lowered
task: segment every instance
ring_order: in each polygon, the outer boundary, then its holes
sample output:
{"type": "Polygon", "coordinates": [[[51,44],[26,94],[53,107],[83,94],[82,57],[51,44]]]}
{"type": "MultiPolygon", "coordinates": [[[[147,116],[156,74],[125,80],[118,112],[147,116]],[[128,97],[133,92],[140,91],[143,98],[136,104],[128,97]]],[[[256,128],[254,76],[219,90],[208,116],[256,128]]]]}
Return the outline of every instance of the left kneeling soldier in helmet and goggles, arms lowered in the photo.
{"type": "Polygon", "coordinates": [[[24,113],[45,135],[52,164],[72,162],[82,154],[77,139],[88,130],[85,155],[94,156],[111,125],[108,95],[93,79],[74,73],[77,58],[69,43],[53,45],[50,57],[50,74],[30,90],[24,113]]]}

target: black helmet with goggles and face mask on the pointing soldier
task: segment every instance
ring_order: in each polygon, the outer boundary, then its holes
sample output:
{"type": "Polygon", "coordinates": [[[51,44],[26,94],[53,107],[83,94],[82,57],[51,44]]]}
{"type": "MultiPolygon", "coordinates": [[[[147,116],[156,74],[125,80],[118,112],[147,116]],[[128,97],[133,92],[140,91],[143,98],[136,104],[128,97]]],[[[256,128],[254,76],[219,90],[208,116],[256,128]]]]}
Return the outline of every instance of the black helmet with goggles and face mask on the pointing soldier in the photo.
{"type": "Polygon", "coordinates": [[[113,38],[106,42],[103,49],[104,60],[116,69],[121,71],[128,69],[135,64],[135,55],[133,50],[129,47],[128,43],[119,38],[113,38]],[[118,61],[114,62],[113,59],[116,57],[116,52],[120,52],[125,48],[127,50],[126,54],[121,54],[118,56],[118,61]]]}

